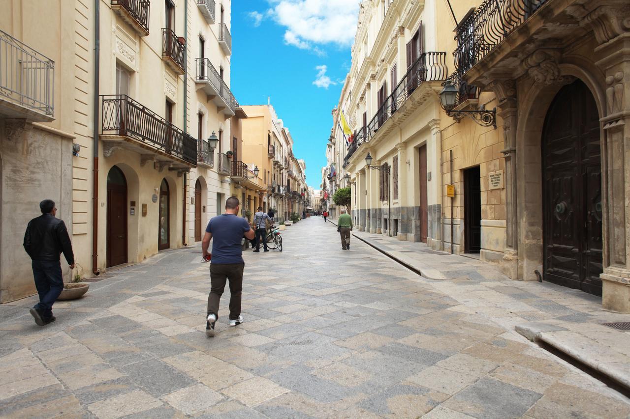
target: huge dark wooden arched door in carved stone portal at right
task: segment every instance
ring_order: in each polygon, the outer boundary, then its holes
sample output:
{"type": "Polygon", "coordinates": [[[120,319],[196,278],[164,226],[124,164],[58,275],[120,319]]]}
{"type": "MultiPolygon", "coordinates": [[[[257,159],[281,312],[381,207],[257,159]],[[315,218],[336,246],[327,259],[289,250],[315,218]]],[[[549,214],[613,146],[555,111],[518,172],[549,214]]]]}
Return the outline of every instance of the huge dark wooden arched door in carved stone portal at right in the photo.
{"type": "Polygon", "coordinates": [[[542,131],[546,281],[602,295],[602,170],[597,104],[581,81],[556,95],[542,131]]]}

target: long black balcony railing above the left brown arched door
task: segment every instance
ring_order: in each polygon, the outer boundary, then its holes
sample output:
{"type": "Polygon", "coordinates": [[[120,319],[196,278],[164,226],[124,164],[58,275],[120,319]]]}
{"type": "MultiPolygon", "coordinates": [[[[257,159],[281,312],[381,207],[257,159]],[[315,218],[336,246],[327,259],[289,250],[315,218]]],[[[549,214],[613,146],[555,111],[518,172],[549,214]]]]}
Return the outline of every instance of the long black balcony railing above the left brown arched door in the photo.
{"type": "Polygon", "coordinates": [[[197,140],[124,94],[101,96],[101,135],[132,138],[192,165],[197,140]]]}

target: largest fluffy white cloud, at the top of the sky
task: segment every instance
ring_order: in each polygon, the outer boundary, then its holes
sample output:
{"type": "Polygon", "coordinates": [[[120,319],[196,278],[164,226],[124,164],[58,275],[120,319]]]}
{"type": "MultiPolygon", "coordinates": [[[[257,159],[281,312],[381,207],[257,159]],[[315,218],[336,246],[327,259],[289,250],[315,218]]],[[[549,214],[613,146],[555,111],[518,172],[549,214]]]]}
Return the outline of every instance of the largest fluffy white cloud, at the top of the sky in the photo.
{"type": "Polygon", "coordinates": [[[357,0],[269,0],[268,14],[285,26],[284,40],[323,55],[316,45],[350,47],[357,30],[357,0]]]}

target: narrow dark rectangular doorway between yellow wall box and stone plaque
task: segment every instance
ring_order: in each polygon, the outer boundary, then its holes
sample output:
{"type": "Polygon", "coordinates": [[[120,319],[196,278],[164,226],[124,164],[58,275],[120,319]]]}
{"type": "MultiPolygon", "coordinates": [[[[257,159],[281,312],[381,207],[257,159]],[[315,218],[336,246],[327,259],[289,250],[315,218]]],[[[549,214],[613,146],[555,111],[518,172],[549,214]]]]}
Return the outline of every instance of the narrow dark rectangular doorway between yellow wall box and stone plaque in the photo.
{"type": "Polygon", "coordinates": [[[481,172],[479,166],[464,170],[464,252],[481,250],[481,172]]]}

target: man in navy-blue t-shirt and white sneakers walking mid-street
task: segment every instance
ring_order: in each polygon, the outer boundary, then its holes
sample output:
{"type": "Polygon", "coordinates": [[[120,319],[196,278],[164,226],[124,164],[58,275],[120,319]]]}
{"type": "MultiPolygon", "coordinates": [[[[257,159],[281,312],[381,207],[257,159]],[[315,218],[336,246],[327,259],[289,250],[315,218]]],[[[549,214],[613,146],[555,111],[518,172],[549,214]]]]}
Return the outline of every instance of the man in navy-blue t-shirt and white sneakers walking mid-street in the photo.
{"type": "Polygon", "coordinates": [[[214,324],[219,318],[219,300],[230,282],[230,326],[243,323],[241,316],[241,291],[243,291],[243,237],[251,240],[254,230],[245,218],[239,217],[238,198],[227,198],[226,213],[213,217],[205,229],[201,249],[203,257],[208,255],[210,239],[212,240],[212,262],[210,263],[210,294],[208,296],[208,313],[205,334],[214,336],[214,324]]]}

